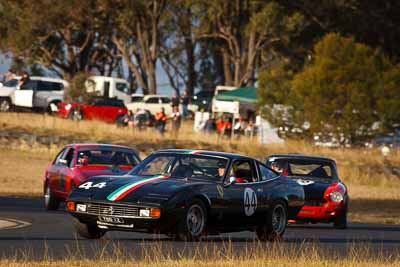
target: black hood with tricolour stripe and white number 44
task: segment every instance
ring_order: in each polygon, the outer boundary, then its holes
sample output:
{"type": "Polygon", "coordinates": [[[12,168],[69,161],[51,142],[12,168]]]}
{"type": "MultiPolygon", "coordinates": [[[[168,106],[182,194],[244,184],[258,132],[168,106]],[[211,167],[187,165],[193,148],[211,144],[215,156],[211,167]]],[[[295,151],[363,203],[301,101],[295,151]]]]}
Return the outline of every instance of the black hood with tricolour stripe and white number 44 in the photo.
{"type": "Polygon", "coordinates": [[[82,183],[69,199],[161,204],[183,188],[205,181],[174,179],[169,176],[97,176],[82,183]],[[90,184],[88,184],[90,183],[90,184]]]}

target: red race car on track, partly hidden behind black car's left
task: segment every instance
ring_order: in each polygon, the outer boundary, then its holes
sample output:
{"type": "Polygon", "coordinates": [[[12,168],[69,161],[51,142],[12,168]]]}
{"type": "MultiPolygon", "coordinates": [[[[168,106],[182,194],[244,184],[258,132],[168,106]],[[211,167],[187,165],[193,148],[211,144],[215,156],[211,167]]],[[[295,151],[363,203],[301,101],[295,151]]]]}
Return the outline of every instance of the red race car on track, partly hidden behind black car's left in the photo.
{"type": "Polygon", "coordinates": [[[68,194],[96,175],[123,175],[140,162],[129,147],[105,144],[70,144],[47,167],[44,176],[44,204],[56,210],[68,194]]]}

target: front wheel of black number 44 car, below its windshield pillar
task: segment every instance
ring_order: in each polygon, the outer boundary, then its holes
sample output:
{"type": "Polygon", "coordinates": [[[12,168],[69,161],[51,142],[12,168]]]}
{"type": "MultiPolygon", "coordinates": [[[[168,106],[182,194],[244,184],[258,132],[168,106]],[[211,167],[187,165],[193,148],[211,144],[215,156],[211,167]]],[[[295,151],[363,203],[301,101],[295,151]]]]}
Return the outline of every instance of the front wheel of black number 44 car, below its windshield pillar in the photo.
{"type": "Polygon", "coordinates": [[[195,199],[185,211],[172,236],[176,240],[198,241],[207,225],[207,209],[201,200],[195,199]]]}

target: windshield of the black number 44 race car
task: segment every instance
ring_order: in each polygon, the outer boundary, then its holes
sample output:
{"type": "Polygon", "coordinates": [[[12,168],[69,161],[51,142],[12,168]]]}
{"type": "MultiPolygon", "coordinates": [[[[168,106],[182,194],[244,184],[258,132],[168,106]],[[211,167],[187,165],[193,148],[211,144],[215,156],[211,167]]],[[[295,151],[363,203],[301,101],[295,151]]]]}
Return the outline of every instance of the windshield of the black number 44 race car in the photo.
{"type": "Polygon", "coordinates": [[[228,160],[192,154],[153,154],[142,161],[130,174],[141,176],[171,175],[175,178],[221,180],[228,160]]]}

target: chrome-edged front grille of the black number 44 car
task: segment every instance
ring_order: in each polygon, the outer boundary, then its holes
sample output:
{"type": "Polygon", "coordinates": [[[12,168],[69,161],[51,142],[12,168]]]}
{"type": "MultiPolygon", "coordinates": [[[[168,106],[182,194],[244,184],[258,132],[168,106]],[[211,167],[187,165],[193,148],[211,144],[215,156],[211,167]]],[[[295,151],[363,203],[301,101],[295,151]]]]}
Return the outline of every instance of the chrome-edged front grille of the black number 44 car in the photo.
{"type": "Polygon", "coordinates": [[[86,213],[93,215],[107,215],[134,218],[139,216],[139,208],[97,203],[85,203],[86,213]]]}

